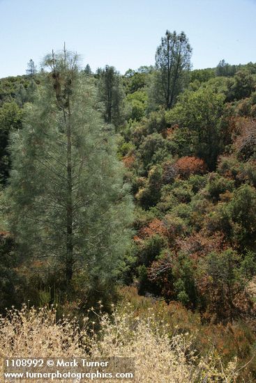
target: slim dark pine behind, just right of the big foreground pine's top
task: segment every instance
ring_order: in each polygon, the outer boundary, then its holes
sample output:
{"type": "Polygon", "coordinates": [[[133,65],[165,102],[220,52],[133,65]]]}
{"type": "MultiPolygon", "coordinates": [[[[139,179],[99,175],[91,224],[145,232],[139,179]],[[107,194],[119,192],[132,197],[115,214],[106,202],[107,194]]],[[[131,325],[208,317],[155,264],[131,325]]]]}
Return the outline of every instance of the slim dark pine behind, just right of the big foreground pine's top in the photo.
{"type": "Polygon", "coordinates": [[[113,66],[106,65],[98,69],[99,100],[103,102],[103,115],[106,123],[117,127],[122,121],[124,91],[119,72],[113,66]]]}

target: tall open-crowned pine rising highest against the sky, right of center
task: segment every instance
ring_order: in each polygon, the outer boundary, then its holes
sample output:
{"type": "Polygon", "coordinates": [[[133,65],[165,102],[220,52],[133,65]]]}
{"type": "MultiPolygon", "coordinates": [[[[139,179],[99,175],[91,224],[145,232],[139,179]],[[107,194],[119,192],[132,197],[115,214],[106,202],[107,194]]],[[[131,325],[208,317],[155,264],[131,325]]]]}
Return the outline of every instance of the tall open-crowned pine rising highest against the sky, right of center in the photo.
{"type": "Polygon", "coordinates": [[[190,69],[192,48],[184,32],[166,31],[156,49],[156,89],[158,100],[170,109],[183,88],[184,75],[190,69]]]}

